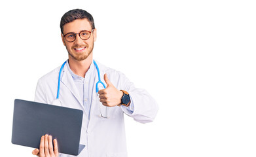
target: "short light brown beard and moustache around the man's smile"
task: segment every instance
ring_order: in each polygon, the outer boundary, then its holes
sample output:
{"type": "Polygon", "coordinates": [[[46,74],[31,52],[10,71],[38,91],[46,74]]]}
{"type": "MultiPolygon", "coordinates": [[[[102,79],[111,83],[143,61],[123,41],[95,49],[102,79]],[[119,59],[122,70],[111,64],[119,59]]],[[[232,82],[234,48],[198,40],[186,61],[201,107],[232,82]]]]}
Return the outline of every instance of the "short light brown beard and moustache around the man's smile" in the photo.
{"type": "MultiPolygon", "coordinates": [[[[67,49],[67,46],[65,48],[67,49]]],[[[75,45],[72,47],[71,50],[67,49],[67,52],[69,53],[71,58],[73,58],[74,60],[82,61],[82,60],[86,60],[86,58],[88,58],[88,56],[92,53],[93,49],[94,49],[94,43],[92,43],[92,47],[90,47],[90,48],[88,47],[88,45],[75,45]],[[73,48],[76,48],[76,47],[86,47],[86,48],[88,48],[88,50],[77,54],[76,52],[72,52],[73,48]]]]}

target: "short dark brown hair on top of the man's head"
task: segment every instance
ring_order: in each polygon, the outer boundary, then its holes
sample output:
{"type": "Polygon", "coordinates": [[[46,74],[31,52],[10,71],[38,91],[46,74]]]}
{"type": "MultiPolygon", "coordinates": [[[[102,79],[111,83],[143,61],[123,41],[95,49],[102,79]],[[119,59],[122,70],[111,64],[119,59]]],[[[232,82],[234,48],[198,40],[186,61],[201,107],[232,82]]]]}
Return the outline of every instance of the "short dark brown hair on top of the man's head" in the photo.
{"type": "Polygon", "coordinates": [[[92,29],[95,29],[94,26],[94,18],[92,18],[92,15],[89,12],[86,12],[86,10],[82,9],[73,9],[69,10],[62,16],[62,20],[60,20],[60,31],[62,31],[63,34],[63,26],[69,22],[73,22],[77,19],[84,19],[86,18],[90,22],[90,26],[92,29]]]}

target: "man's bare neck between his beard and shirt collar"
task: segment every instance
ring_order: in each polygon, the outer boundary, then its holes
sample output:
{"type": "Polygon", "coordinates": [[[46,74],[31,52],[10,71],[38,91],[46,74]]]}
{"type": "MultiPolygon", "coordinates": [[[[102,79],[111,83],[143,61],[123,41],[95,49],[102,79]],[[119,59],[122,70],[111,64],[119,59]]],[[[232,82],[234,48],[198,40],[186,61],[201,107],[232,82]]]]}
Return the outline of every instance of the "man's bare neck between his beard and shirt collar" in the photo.
{"type": "Polygon", "coordinates": [[[85,74],[90,68],[91,63],[92,63],[92,53],[85,60],[82,60],[82,61],[74,60],[74,58],[72,58],[69,55],[69,67],[71,71],[73,71],[75,75],[79,75],[79,77],[85,77],[85,74]]]}

